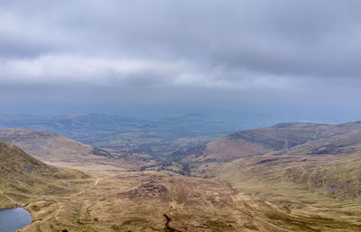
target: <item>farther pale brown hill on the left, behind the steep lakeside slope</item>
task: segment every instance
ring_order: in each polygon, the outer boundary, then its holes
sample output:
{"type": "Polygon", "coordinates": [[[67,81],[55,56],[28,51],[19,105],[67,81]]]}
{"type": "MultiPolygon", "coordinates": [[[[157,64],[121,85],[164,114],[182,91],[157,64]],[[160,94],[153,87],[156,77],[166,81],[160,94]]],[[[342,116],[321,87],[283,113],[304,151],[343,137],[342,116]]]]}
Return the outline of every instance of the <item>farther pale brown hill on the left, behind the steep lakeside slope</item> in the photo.
{"type": "Polygon", "coordinates": [[[103,149],[49,132],[0,129],[0,140],[21,147],[25,153],[42,162],[83,171],[117,172],[119,169],[139,169],[148,165],[148,162],[112,159],[113,155],[103,149]]]}

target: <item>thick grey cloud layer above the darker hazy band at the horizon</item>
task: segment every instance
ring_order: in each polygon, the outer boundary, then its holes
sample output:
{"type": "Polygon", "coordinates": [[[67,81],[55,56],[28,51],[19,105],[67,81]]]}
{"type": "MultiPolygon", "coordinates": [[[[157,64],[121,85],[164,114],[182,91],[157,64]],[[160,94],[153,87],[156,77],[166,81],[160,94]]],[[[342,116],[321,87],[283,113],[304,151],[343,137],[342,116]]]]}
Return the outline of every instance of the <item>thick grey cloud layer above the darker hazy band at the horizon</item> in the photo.
{"type": "Polygon", "coordinates": [[[358,79],[360,6],[352,0],[3,1],[1,17],[14,24],[0,39],[1,64],[20,60],[42,71],[27,66],[0,74],[45,83],[106,79],[122,86],[241,89],[358,79]],[[146,69],[118,69],[115,60],[146,69]]]}

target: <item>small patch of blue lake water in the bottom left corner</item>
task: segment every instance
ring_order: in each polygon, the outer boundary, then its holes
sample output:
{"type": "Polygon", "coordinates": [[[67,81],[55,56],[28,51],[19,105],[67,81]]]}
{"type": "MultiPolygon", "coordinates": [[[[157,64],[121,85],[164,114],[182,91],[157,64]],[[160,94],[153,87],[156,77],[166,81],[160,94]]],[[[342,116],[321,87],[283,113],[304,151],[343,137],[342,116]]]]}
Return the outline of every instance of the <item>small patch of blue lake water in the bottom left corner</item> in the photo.
{"type": "Polygon", "coordinates": [[[32,223],[32,216],[23,208],[0,209],[0,232],[13,232],[32,223]]]}

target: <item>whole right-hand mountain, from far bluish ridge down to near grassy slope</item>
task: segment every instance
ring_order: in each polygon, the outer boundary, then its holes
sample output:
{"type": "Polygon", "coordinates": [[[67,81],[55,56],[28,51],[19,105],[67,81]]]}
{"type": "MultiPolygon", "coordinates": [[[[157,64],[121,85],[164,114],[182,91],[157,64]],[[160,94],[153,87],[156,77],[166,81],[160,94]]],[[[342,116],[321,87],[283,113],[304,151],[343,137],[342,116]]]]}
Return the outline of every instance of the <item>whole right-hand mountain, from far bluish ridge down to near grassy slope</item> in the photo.
{"type": "Polygon", "coordinates": [[[228,135],[188,152],[180,162],[191,175],[273,204],[282,211],[270,217],[279,227],[360,230],[360,122],[279,124],[228,135]]]}

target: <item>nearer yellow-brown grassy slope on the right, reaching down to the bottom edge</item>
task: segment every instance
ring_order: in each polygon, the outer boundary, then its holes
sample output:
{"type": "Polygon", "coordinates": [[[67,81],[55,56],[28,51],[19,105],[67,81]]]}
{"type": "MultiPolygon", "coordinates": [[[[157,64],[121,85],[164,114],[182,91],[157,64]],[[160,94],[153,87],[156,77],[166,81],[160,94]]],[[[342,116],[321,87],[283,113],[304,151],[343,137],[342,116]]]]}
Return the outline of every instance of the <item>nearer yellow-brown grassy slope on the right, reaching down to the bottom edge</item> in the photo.
{"type": "Polygon", "coordinates": [[[269,216],[280,227],[292,231],[359,231],[360,170],[361,155],[346,159],[327,155],[258,156],[204,164],[194,174],[273,203],[282,214],[269,216]]]}

